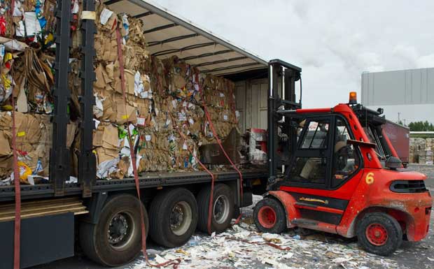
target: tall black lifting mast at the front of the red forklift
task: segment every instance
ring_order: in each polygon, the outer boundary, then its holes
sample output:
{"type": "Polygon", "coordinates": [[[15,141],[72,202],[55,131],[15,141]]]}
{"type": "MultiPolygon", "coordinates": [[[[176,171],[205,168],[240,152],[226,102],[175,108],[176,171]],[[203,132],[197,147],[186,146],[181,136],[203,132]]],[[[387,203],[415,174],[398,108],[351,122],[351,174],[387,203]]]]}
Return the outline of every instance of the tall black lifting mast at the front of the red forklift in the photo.
{"type": "MultiPolygon", "coordinates": [[[[297,110],[302,108],[302,80],[300,67],[288,64],[280,59],[273,59],[268,63],[268,164],[269,182],[274,182],[277,170],[283,164],[283,160],[277,150],[281,136],[285,136],[289,147],[284,150],[290,152],[290,147],[296,144],[295,129],[290,127],[290,122],[285,122],[281,116],[282,111],[297,110]],[[300,80],[300,96],[297,100],[295,82],[300,80]],[[280,131],[279,131],[280,129],[280,131]]],[[[286,154],[288,152],[283,152],[286,154]]]]}

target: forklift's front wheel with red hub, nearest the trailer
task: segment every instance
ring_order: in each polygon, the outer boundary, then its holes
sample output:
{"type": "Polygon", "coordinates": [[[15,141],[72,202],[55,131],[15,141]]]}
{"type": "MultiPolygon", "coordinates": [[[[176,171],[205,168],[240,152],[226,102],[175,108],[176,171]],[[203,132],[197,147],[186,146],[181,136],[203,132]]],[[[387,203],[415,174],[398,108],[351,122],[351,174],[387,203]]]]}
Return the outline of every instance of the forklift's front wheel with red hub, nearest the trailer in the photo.
{"type": "Polygon", "coordinates": [[[253,210],[256,227],[262,233],[281,233],[286,228],[286,213],[282,204],[273,198],[263,198],[253,210]]]}

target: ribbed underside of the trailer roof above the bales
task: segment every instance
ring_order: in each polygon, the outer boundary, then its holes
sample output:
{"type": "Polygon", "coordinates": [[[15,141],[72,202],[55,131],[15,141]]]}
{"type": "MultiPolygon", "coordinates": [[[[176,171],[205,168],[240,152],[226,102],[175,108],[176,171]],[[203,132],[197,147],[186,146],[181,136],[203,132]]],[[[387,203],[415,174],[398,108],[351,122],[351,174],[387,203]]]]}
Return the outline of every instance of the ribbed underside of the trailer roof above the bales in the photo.
{"type": "Polygon", "coordinates": [[[104,4],[116,13],[128,13],[144,20],[147,49],[160,59],[176,55],[203,73],[228,75],[267,69],[267,61],[252,52],[216,36],[150,0],[108,0],[104,4]],[[130,5],[130,6],[128,6],[130,5]],[[134,8],[132,5],[137,6],[134,8]],[[137,14],[135,14],[137,13],[137,14]]]}

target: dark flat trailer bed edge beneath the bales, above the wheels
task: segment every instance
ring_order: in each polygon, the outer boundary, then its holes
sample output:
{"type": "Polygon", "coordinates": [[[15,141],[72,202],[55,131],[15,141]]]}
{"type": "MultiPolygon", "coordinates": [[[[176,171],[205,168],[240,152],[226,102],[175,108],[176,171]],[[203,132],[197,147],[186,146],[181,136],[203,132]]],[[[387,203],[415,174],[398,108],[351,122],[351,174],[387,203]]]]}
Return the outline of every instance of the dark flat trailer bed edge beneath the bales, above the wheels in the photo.
{"type": "MultiPolygon", "coordinates": [[[[213,171],[213,173],[216,175],[216,181],[237,180],[239,177],[235,170],[213,171]]],[[[244,180],[267,177],[266,169],[244,169],[241,170],[241,173],[244,180]]],[[[211,182],[211,176],[204,171],[174,173],[153,172],[140,175],[139,180],[141,189],[144,189],[211,182]]],[[[122,180],[97,180],[92,187],[92,192],[123,191],[127,189],[135,189],[135,187],[136,184],[133,177],[127,177],[122,180]]],[[[65,184],[64,196],[78,195],[81,194],[81,192],[82,190],[78,183],[65,184]]],[[[54,197],[54,194],[55,190],[52,184],[21,185],[22,200],[54,197]]],[[[0,186],[0,202],[13,201],[13,199],[15,199],[14,185],[0,186]]]]}

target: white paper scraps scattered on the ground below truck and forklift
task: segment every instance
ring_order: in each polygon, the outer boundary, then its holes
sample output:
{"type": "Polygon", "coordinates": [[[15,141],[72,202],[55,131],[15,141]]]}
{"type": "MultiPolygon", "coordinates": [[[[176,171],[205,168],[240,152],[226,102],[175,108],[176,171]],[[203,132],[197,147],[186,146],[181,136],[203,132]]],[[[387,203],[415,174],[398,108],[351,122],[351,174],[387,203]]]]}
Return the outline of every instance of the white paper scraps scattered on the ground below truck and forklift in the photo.
{"type": "MultiPolygon", "coordinates": [[[[256,197],[256,196],[255,196],[256,197]]],[[[258,198],[256,198],[258,201],[258,198]]],[[[186,245],[176,249],[163,249],[155,256],[157,261],[181,259],[179,269],[310,269],[310,268],[347,268],[347,269],[398,269],[401,264],[388,258],[379,258],[359,249],[357,244],[342,238],[336,240],[330,235],[318,233],[311,240],[293,238],[300,230],[288,230],[282,234],[259,233],[251,220],[252,208],[243,209],[243,218],[239,224],[228,228],[223,233],[212,237],[204,233],[196,233],[186,245]],[[327,241],[315,238],[327,237],[327,241]],[[229,239],[230,238],[230,239],[229,239]],[[290,247],[290,251],[263,245],[267,242],[290,247]]],[[[429,263],[431,260],[426,261],[429,263]]],[[[142,267],[146,266],[143,257],[137,260],[142,267]]],[[[167,269],[171,266],[165,267],[167,269]]],[[[410,268],[406,268],[410,269],[410,268]]]]}

